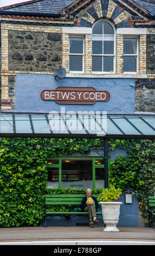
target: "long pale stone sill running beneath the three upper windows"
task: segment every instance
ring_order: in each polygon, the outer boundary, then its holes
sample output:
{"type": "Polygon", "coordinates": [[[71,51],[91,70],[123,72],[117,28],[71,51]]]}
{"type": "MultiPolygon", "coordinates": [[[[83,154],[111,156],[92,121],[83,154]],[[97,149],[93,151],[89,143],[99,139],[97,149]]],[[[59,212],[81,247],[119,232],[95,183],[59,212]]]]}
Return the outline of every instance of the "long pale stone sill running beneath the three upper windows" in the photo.
{"type": "Polygon", "coordinates": [[[146,74],[77,74],[67,73],[66,77],[77,78],[147,78],[146,74]]]}

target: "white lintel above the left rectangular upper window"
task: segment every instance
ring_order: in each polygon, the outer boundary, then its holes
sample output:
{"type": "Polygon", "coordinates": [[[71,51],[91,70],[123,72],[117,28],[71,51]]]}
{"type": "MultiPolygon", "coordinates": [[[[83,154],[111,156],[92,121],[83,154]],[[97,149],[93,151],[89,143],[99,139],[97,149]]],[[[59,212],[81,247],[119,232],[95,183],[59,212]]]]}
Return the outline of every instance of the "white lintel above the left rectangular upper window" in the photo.
{"type": "Polygon", "coordinates": [[[92,28],[83,27],[62,27],[62,33],[69,34],[92,34],[92,28]]]}

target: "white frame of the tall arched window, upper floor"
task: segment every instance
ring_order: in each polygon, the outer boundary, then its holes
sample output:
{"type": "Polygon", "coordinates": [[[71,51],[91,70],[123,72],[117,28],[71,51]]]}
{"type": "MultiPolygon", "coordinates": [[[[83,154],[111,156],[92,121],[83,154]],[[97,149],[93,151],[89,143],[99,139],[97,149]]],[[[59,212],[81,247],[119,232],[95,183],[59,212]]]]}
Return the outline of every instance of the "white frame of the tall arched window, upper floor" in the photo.
{"type": "MultiPolygon", "coordinates": [[[[93,27],[96,25],[96,23],[98,22],[101,22],[101,21],[105,21],[107,23],[109,23],[109,25],[112,26],[113,30],[114,30],[114,34],[111,36],[111,35],[108,35],[109,36],[109,39],[113,37],[113,41],[114,41],[114,53],[113,54],[93,54],[92,52],[92,56],[100,56],[102,57],[102,63],[103,63],[103,58],[104,56],[112,56],[113,57],[113,72],[107,72],[107,71],[103,71],[104,69],[104,65],[102,64],[102,71],[93,71],[92,70],[92,74],[115,74],[116,72],[116,68],[115,68],[115,35],[116,35],[116,31],[115,31],[115,27],[113,25],[112,22],[108,21],[108,20],[99,20],[97,22],[95,22],[95,24],[93,25],[93,27]]],[[[103,26],[103,25],[102,25],[103,26]]],[[[104,37],[105,35],[102,34],[102,35],[97,35],[97,34],[93,34],[92,33],[92,42],[93,42],[93,39],[98,39],[98,40],[102,40],[102,42],[104,41],[104,37]]],[[[107,38],[108,39],[108,38],[107,38]]],[[[92,49],[93,50],[93,49],[92,49]]]]}

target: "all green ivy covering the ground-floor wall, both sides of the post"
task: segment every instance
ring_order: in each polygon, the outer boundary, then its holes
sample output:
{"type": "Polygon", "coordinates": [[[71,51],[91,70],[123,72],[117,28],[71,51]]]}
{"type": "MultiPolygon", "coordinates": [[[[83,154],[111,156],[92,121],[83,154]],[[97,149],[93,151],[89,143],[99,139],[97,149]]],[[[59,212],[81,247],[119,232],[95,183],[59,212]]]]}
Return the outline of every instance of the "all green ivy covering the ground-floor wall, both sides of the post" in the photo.
{"type": "MultiPolygon", "coordinates": [[[[104,147],[102,139],[0,138],[0,227],[40,225],[47,193],[47,157],[87,154],[104,147]],[[47,144],[46,144],[47,143],[47,144]]],[[[109,184],[133,187],[141,213],[148,216],[147,195],[155,190],[155,142],[109,141],[109,151],[127,148],[128,157],[111,162],[109,184]]],[[[76,191],[77,192],[77,191],[76,191]]]]}

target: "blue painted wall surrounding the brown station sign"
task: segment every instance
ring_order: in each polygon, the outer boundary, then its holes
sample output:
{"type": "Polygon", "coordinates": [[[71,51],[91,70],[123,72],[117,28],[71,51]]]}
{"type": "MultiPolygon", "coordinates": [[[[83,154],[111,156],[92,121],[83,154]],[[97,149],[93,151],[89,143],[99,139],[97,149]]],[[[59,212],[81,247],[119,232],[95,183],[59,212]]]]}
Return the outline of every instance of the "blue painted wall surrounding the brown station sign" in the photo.
{"type": "Polygon", "coordinates": [[[53,75],[16,75],[16,112],[49,113],[61,107],[65,111],[107,111],[108,114],[134,114],[134,79],[132,78],[63,78],[55,81],[53,75]],[[94,105],[60,105],[55,101],[44,101],[40,94],[44,89],[59,86],[94,87],[107,90],[111,94],[108,101],[98,101],[94,105]]]}

